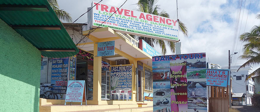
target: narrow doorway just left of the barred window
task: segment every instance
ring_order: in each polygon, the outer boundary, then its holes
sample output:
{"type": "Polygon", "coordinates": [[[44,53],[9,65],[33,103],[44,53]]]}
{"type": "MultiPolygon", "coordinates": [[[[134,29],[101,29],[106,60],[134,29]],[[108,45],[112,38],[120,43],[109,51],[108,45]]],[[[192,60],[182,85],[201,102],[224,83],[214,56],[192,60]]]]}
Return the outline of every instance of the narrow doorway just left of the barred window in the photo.
{"type": "Polygon", "coordinates": [[[136,68],[136,101],[143,101],[143,71],[136,68]]]}

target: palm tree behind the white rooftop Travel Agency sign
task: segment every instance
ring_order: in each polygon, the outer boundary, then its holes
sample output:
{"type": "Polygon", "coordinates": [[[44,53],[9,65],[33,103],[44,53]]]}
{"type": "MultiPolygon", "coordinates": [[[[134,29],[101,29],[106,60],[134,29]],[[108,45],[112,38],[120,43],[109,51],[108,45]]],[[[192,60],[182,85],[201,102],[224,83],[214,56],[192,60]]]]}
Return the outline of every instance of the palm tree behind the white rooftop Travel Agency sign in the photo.
{"type": "MultiPolygon", "coordinates": [[[[149,13],[149,14],[154,14],[157,16],[163,16],[169,18],[169,14],[163,10],[160,13],[158,10],[160,9],[160,5],[155,5],[158,2],[158,0],[139,0],[137,3],[137,11],[149,13]]],[[[179,20],[177,20],[179,21],[179,20]]],[[[182,31],[182,33],[185,36],[188,36],[188,29],[183,24],[181,21],[179,21],[179,30],[182,31]]],[[[160,47],[162,48],[162,54],[165,55],[167,53],[166,51],[166,44],[170,47],[171,52],[175,53],[175,42],[172,41],[165,41],[165,40],[160,40],[160,39],[152,39],[152,38],[147,38],[147,37],[142,37],[142,36],[133,36],[136,40],[137,39],[143,39],[146,41],[148,44],[150,44],[152,47],[154,47],[155,44],[159,44],[160,47]]]]}

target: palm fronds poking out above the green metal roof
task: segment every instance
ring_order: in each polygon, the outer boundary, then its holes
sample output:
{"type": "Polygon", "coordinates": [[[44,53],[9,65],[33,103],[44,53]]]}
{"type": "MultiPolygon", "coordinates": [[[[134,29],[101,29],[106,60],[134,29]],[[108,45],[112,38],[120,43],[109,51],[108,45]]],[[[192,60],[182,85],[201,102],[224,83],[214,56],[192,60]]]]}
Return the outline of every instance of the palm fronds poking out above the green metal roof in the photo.
{"type": "Polygon", "coordinates": [[[49,4],[51,5],[51,8],[53,9],[53,11],[56,13],[56,15],[58,16],[58,18],[62,21],[67,21],[67,22],[72,22],[72,18],[70,16],[70,14],[66,11],[64,11],[63,9],[59,9],[59,5],[58,5],[58,1],[57,0],[47,0],[49,2],[49,4]]]}

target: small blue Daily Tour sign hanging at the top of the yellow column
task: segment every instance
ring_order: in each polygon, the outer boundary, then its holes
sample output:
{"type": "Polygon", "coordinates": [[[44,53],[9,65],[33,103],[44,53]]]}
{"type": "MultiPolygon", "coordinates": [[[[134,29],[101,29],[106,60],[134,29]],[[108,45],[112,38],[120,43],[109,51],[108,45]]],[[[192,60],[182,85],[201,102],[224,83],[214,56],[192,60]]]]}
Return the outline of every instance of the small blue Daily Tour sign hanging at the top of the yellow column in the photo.
{"type": "Polygon", "coordinates": [[[98,56],[115,55],[115,41],[98,42],[98,56]]]}

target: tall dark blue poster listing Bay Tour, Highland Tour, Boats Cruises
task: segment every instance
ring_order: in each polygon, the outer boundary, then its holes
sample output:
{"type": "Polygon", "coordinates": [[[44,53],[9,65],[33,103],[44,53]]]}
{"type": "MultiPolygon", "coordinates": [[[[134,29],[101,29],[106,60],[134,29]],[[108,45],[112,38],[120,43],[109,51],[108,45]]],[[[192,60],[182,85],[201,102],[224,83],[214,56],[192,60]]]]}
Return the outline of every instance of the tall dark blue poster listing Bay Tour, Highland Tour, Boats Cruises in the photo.
{"type": "Polygon", "coordinates": [[[53,58],[51,69],[51,91],[56,94],[60,94],[59,99],[64,99],[69,73],[69,57],[66,58],[53,58]]]}

